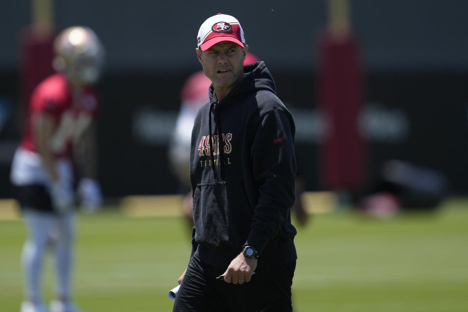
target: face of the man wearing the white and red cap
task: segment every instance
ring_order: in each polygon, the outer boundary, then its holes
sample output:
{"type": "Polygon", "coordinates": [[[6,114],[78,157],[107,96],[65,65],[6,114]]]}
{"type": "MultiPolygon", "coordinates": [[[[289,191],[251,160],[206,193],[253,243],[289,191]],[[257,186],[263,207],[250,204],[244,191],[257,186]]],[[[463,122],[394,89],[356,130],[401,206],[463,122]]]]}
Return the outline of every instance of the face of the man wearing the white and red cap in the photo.
{"type": "Polygon", "coordinates": [[[213,82],[213,87],[232,89],[244,78],[244,59],[248,46],[242,48],[231,41],[221,41],[206,51],[196,49],[205,75],[213,82]]]}

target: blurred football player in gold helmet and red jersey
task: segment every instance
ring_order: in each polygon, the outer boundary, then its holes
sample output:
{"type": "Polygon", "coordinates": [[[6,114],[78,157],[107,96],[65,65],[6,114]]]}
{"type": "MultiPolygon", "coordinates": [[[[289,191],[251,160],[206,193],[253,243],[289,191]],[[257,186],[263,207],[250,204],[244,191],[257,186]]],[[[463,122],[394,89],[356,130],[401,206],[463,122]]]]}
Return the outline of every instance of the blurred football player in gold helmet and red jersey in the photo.
{"type": "Polygon", "coordinates": [[[56,296],[51,312],[78,312],[70,294],[76,197],[88,211],[102,195],[96,181],[95,117],[98,96],[91,88],[101,72],[104,48],[87,27],[70,27],[54,41],[57,73],[34,89],[11,181],[28,230],[22,250],[25,301],[21,312],[47,312],[41,297],[45,248],[55,248],[56,296]],[[80,169],[77,193],[73,167],[80,169]]]}

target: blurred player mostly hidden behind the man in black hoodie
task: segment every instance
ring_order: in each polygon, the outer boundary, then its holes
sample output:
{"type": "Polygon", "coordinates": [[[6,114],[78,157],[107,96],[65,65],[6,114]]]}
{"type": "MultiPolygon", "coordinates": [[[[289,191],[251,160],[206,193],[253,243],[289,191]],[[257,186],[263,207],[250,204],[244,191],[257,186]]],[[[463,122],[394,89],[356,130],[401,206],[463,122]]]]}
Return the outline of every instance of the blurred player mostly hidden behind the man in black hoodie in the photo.
{"type": "MultiPolygon", "coordinates": [[[[244,60],[244,65],[258,62],[256,56],[248,52],[244,60]]],[[[192,188],[189,179],[190,165],[190,140],[192,138],[192,128],[198,109],[208,102],[208,88],[211,80],[206,77],[203,70],[192,74],[184,83],[180,92],[180,111],[174,129],[173,139],[169,146],[169,159],[172,171],[180,182],[180,192],[184,194],[182,203],[183,213],[186,217],[190,233],[194,226],[194,216],[192,214],[192,188]]]]}

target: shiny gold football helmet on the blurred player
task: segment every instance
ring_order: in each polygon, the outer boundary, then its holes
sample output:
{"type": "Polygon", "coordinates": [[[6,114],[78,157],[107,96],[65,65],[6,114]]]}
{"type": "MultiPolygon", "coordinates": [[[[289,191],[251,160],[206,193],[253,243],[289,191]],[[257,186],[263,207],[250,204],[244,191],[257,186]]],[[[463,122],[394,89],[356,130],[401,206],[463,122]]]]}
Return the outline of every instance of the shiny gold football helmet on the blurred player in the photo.
{"type": "Polygon", "coordinates": [[[74,83],[98,81],[104,62],[104,47],[93,30],[85,26],[64,29],[54,41],[54,68],[74,83]]]}

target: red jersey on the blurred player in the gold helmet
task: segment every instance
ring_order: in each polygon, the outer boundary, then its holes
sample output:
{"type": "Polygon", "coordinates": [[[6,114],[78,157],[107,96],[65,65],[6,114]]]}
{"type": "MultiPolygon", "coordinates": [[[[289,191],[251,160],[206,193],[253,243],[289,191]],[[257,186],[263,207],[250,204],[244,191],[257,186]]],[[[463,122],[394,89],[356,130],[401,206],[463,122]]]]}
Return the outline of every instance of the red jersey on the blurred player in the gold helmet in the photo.
{"type": "Polygon", "coordinates": [[[49,148],[58,158],[70,157],[73,143],[91,125],[98,105],[98,96],[91,87],[74,96],[63,74],[46,78],[31,95],[21,147],[37,152],[32,122],[37,114],[51,114],[56,118],[56,127],[49,148]]]}

